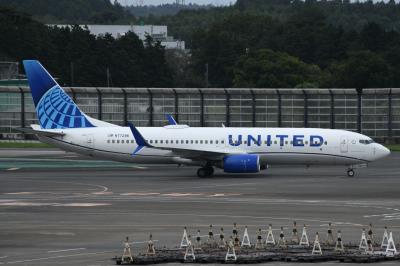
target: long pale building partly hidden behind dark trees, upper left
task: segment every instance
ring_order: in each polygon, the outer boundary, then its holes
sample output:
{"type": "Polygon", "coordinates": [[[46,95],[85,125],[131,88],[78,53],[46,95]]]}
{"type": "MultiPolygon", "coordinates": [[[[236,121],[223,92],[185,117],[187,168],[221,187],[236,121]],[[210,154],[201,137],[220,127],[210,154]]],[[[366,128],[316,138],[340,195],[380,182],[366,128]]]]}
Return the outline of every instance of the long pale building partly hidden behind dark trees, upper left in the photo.
{"type": "MultiPolygon", "coordinates": [[[[48,25],[57,27],[71,27],[71,25],[48,25]]],[[[144,41],[146,36],[151,36],[154,40],[160,41],[165,49],[185,50],[185,42],[175,40],[168,36],[168,26],[164,25],[79,25],[87,28],[91,34],[96,36],[111,34],[114,38],[121,38],[129,31],[134,32],[140,40],[144,41]]]]}

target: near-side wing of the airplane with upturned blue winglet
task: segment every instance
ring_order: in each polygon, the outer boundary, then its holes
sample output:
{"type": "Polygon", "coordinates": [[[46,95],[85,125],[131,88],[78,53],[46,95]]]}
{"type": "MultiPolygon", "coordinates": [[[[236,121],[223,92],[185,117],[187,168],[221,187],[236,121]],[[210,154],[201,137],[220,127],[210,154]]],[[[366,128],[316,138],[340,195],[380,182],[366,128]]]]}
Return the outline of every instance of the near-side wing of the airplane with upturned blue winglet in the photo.
{"type": "Polygon", "coordinates": [[[238,152],[234,150],[229,150],[226,148],[208,148],[208,149],[187,149],[187,148],[176,148],[176,147],[159,147],[149,144],[145,138],[140,134],[137,128],[128,123],[133,137],[138,144],[136,150],[132,153],[132,155],[136,155],[143,148],[151,148],[151,149],[159,149],[159,150],[168,150],[176,154],[177,156],[189,158],[189,159],[207,159],[207,160],[221,160],[225,155],[228,154],[244,154],[244,152],[238,152]]]}

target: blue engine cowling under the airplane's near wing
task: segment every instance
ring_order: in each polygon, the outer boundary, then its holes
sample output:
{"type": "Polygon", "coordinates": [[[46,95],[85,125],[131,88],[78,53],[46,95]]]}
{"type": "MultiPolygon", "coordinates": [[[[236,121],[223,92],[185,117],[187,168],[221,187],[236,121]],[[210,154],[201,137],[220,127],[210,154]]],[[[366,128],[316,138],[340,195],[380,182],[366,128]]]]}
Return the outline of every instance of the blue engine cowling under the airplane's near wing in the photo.
{"type": "Polygon", "coordinates": [[[258,173],[260,172],[260,157],[254,154],[235,154],[225,156],[224,172],[258,173]]]}

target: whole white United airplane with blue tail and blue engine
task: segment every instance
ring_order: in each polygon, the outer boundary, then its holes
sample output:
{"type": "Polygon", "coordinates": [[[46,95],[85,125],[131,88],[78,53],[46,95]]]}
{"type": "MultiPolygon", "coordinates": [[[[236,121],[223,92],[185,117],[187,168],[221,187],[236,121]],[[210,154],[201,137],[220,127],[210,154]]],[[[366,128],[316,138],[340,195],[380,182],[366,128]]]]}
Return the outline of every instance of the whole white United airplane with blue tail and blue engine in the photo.
{"type": "Polygon", "coordinates": [[[97,158],[137,164],[199,166],[209,177],[259,173],[270,165],[342,165],[354,169],[384,158],[390,151],[365,135],[320,128],[189,127],[168,116],[164,127],[128,127],[89,117],[36,60],[23,65],[39,125],[25,132],[42,142],[97,158]]]}

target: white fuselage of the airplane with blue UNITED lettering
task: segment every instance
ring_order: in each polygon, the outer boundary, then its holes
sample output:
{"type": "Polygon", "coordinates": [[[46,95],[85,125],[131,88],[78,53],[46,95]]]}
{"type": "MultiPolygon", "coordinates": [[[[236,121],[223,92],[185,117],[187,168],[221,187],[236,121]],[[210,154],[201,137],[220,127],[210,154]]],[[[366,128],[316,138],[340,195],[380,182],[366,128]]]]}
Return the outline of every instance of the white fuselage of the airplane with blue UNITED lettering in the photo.
{"type": "Polygon", "coordinates": [[[64,150],[103,159],[140,164],[192,164],[207,161],[190,158],[190,151],[212,151],[229,154],[258,154],[262,164],[358,165],[388,155],[377,143],[362,134],[333,129],[314,128],[198,128],[184,125],[138,128],[154,148],[137,154],[129,127],[94,127],[59,129],[64,136],[39,136],[44,142],[64,150]],[[314,136],[312,138],[312,136],[314,136]],[[317,137],[315,137],[317,136],[317,137]],[[361,140],[361,141],[360,141],[361,140]],[[156,148],[162,149],[156,149],[156,148]],[[167,148],[187,149],[188,156],[167,148]]]}

